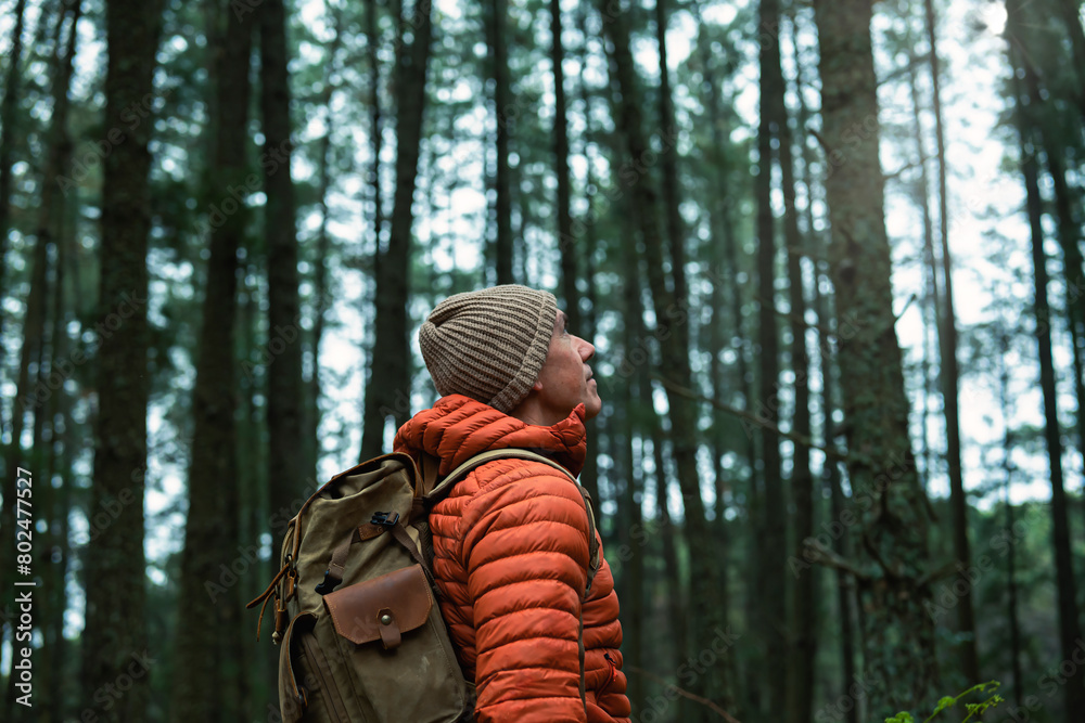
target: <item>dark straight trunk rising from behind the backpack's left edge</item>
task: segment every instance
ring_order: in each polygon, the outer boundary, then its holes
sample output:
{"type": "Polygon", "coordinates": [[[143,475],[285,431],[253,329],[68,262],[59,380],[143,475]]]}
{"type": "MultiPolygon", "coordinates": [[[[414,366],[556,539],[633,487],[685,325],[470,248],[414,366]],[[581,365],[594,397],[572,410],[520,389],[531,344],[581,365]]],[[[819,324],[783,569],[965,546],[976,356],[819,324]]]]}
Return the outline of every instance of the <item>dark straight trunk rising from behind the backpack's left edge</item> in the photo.
{"type": "MultiPolygon", "coordinates": [[[[264,236],[268,246],[268,483],[270,508],[292,509],[306,475],[302,429],[302,314],[297,298],[297,223],[290,176],[290,76],[283,0],[259,13],[260,111],[264,131],[264,236]]],[[[318,259],[318,262],[322,259],[318,259]]],[[[289,513],[286,513],[289,517],[289,513]]]]}

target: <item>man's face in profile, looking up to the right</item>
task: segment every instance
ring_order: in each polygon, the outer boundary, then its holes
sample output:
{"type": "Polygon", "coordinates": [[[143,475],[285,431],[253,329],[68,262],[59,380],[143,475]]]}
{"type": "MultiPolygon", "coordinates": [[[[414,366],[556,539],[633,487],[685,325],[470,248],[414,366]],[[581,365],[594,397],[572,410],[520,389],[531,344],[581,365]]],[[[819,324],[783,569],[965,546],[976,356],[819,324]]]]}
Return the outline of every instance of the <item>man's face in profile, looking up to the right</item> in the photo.
{"type": "Polygon", "coordinates": [[[590,419],[602,410],[596,380],[591,378],[591,367],[587,361],[596,353],[596,348],[578,336],[569,333],[564,311],[558,312],[550,336],[550,349],[546,364],[535,382],[539,403],[552,418],[564,419],[580,402],[585,416],[590,419]]]}

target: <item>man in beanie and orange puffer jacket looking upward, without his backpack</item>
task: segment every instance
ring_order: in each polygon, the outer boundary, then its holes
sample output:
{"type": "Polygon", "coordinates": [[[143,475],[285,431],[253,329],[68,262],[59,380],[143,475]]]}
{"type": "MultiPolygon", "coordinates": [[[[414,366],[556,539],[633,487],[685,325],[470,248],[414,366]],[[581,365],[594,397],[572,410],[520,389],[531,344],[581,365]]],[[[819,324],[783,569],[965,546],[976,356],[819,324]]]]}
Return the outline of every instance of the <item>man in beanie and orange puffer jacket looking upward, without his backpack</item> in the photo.
{"type": "MultiPolygon", "coordinates": [[[[587,365],[595,347],[569,333],[551,294],[457,294],[433,310],[419,344],[442,399],[399,428],[396,451],[438,457],[441,476],[507,448],[579,474],[584,421],[602,408],[587,365]]],[[[476,721],[628,720],[614,578],[603,560],[582,603],[588,520],[572,480],[537,461],[488,462],[433,508],[430,528],[441,610],[476,685],[476,721]]]]}

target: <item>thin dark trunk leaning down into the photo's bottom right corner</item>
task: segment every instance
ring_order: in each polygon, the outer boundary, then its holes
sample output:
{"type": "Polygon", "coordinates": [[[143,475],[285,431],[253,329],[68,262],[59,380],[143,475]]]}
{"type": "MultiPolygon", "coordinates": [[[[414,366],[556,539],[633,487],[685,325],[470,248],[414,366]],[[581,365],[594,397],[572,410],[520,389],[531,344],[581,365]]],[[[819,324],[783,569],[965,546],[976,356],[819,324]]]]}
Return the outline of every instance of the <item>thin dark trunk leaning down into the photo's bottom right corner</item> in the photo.
{"type": "MultiPolygon", "coordinates": [[[[1016,13],[1020,12],[1018,0],[1008,0],[1006,30],[1014,33],[1016,13]]],[[[1014,47],[1010,46],[1010,64],[1014,69],[1022,66],[1014,47]]],[[[1032,68],[1024,64],[1026,86],[1031,85],[1032,68]]],[[[1016,120],[1021,138],[1021,171],[1024,176],[1025,208],[1032,232],[1032,260],[1035,269],[1035,314],[1036,343],[1039,351],[1039,384],[1044,393],[1044,436],[1047,441],[1047,454],[1050,464],[1051,478],[1051,543],[1055,553],[1055,572],[1059,595],[1059,643],[1062,659],[1072,660],[1072,655],[1081,638],[1078,610],[1076,602],[1077,586],[1074,581],[1073,558],[1070,552],[1070,522],[1067,516],[1067,495],[1062,482],[1062,440],[1059,427],[1058,409],[1055,389],[1055,361],[1051,354],[1050,309],[1047,300],[1047,255],[1044,253],[1044,229],[1042,223],[1043,199],[1039,195],[1039,164],[1036,160],[1038,138],[1035,132],[1036,119],[1032,114],[1035,108],[1025,105],[1027,92],[1021,88],[1021,81],[1014,80],[1016,120]]],[[[1080,667],[1065,676],[1062,686],[1065,699],[1065,720],[1068,723],[1080,716],[1085,708],[1085,679],[1080,667]]]]}

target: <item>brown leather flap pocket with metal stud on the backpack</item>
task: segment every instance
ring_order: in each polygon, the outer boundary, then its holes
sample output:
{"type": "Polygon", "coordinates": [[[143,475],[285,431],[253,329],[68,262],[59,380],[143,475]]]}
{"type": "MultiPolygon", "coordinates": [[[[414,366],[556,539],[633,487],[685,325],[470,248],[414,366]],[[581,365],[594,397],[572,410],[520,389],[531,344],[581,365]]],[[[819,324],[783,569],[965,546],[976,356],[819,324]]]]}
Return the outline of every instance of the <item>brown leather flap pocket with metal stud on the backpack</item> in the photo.
{"type": "Polygon", "coordinates": [[[433,594],[422,566],[413,565],[324,595],[335,632],[356,645],[381,641],[397,647],[401,634],[425,624],[433,594]]]}

